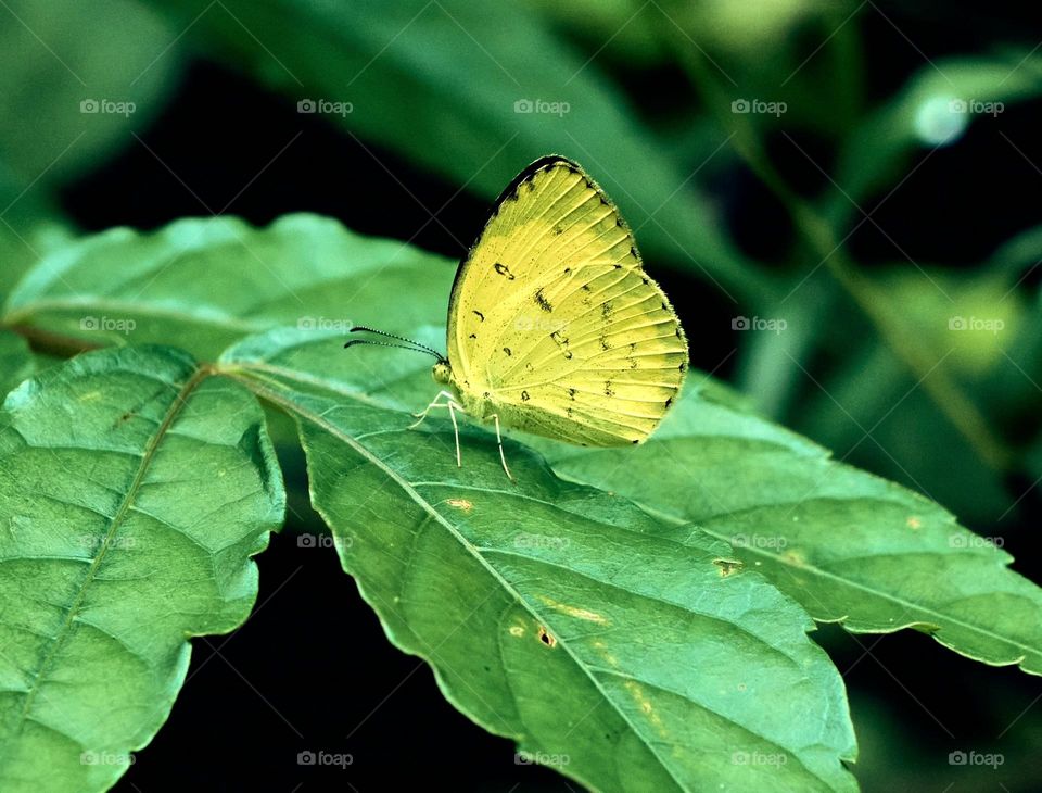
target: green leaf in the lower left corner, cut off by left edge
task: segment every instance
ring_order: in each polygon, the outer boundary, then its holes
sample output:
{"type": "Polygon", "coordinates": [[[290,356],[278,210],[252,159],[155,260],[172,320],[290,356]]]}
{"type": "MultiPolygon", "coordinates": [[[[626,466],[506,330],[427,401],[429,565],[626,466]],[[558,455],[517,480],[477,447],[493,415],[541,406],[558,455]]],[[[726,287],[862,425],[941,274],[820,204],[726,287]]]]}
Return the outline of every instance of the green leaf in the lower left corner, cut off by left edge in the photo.
{"type": "Polygon", "coordinates": [[[0,412],[0,789],[96,791],[166,719],[187,637],[245,620],[284,494],[256,400],[169,348],[81,355],[0,412]]]}

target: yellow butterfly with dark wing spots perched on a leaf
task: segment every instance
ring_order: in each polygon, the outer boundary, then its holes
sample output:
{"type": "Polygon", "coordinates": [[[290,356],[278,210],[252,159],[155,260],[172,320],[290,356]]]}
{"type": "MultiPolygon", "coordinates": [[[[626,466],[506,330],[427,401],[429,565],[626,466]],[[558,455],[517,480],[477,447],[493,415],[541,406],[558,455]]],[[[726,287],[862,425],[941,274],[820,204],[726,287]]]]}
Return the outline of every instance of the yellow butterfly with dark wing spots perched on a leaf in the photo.
{"type": "Polygon", "coordinates": [[[529,165],[493,205],[456,273],[447,348],[447,357],[428,351],[448,389],[414,426],[447,407],[459,465],[456,412],[495,423],[511,479],[500,424],[581,445],[639,443],[688,362],[676,312],[619,210],[556,155],[529,165]]]}

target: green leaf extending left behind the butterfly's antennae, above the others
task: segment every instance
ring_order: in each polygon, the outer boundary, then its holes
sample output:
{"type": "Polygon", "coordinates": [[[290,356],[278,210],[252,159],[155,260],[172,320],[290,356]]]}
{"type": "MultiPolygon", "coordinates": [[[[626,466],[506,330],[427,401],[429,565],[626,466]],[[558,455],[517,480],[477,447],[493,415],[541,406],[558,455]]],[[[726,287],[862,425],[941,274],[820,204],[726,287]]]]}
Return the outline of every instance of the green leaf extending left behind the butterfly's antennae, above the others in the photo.
{"type": "Polygon", "coordinates": [[[212,360],[278,325],[346,330],[353,318],[393,330],[431,316],[443,322],[449,264],[315,215],[288,215],[263,229],[238,218],[189,218],[62,247],[22,280],[2,322],[91,344],[173,344],[212,360]],[[348,300],[364,310],[345,316],[348,300]]]}

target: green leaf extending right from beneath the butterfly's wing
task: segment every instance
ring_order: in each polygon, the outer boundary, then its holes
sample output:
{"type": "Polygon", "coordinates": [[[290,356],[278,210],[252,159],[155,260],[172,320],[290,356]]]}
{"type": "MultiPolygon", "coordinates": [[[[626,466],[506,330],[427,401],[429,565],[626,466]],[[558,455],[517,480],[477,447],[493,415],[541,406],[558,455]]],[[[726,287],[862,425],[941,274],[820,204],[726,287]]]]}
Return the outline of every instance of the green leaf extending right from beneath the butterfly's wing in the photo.
{"type": "Polygon", "coordinates": [[[971,658],[1042,674],[1042,590],[1008,569],[1001,540],[696,383],[625,456],[534,442],[566,478],[727,540],[817,620],[917,628],[971,658]]]}

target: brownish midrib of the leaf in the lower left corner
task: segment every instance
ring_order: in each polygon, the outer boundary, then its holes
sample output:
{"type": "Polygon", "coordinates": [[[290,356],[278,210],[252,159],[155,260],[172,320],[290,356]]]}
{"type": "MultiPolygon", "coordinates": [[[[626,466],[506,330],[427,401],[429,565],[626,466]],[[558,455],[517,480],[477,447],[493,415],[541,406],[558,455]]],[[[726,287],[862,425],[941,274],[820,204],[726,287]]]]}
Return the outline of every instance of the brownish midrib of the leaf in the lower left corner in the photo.
{"type": "MultiPolygon", "coordinates": [[[[33,683],[29,687],[29,690],[26,692],[25,705],[22,708],[22,713],[18,716],[17,725],[15,726],[14,733],[18,734],[22,731],[23,726],[25,725],[26,718],[31,710],[33,703],[36,700],[36,695],[40,690],[40,683],[46,679],[46,674],[50,671],[50,668],[56,657],[59,651],[65,644],[65,641],[72,634],[73,621],[75,620],[80,606],[82,606],[84,600],[87,596],[87,590],[90,584],[93,582],[94,577],[98,575],[98,570],[101,567],[101,563],[104,561],[105,555],[109,552],[109,549],[112,545],[112,539],[115,537],[115,533],[119,530],[119,527],[123,525],[126,519],[127,514],[130,512],[131,505],[135,498],[137,496],[141,484],[144,481],[144,476],[148,474],[149,468],[151,467],[152,461],[155,456],[156,451],[158,450],[160,443],[165,437],[167,430],[174,424],[174,420],[180,414],[181,410],[185,407],[189,394],[199,386],[199,383],[208,375],[211,372],[206,367],[198,368],[192,376],[185,382],[180,391],[175,395],[174,402],[167,408],[166,415],[163,417],[162,423],[156,427],[155,432],[149,438],[149,442],[145,444],[144,454],[141,457],[141,462],[138,465],[138,470],[135,474],[134,479],[130,482],[130,486],[127,488],[127,492],[124,495],[123,501],[119,504],[119,508],[116,511],[116,514],[113,516],[112,521],[109,525],[109,531],[105,533],[105,540],[101,543],[98,555],[94,556],[91,562],[90,568],[87,570],[87,574],[84,577],[82,582],[79,586],[79,590],[76,593],[72,604],[68,607],[68,612],[65,615],[65,620],[62,622],[61,627],[58,630],[58,633],[51,641],[51,646],[48,650],[47,654],[43,656],[40,662],[39,668],[37,669],[36,676],[33,679],[33,683]]],[[[13,741],[9,744],[13,745],[13,741]]]]}

